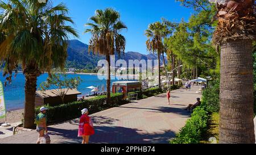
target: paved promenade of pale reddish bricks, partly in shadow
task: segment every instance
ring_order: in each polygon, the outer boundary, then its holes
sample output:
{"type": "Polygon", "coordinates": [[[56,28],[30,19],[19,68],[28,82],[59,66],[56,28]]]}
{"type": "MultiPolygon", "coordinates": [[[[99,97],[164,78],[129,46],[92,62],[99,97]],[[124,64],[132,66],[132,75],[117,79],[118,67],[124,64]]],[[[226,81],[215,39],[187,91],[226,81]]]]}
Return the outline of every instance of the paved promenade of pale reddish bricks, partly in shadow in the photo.
{"type": "MultiPolygon", "coordinates": [[[[201,94],[196,94],[197,89],[197,86],[193,86],[191,91],[171,91],[171,105],[167,104],[166,94],[161,94],[90,115],[96,129],[90,143],[168,143],[190,117],[183,108],[201,97],[201,94]]],[[[81,138],[77,137],[78,122],[79,119],[74,119],[49,126],[51,142],[81,143],[81,138]]],[[[37,139],[38,133],[30,131],[0,139],[0,143],[33,144],[37,139]]]]}

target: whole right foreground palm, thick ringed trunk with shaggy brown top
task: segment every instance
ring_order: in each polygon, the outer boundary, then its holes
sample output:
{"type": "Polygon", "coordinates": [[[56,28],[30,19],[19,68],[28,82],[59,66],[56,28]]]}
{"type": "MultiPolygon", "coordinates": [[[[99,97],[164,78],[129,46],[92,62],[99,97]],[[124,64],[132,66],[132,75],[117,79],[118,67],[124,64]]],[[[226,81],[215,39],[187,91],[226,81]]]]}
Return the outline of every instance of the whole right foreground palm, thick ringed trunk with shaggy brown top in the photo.
{"type": "Polygon", "coordinates": [[[214,43],[221,48],[220,143],[255,143],[253,123],[254,1],[217,5],[214,43]]]}

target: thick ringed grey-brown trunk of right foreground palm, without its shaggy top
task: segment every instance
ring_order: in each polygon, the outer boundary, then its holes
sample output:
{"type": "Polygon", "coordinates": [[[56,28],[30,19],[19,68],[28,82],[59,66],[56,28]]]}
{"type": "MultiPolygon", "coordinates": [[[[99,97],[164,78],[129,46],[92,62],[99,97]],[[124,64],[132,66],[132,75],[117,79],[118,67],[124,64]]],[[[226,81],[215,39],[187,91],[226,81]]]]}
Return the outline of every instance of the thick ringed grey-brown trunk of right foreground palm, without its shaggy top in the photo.
{"type": "Polygon", "coordinates": [[[221,45],[220,143],[255,143],[251,40],[221,45]]]}

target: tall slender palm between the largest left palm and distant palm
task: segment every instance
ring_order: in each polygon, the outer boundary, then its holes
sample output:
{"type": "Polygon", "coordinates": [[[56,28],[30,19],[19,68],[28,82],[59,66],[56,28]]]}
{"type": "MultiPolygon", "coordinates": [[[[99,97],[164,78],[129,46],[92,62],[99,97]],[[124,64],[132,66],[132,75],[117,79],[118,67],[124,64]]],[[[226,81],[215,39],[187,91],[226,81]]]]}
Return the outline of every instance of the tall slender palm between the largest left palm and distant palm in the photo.
{"type": "Polygon", "coordinates": [[[107,103],[110,103],[110,55],[115,52],[120,55],[125,52],[125,37],[119,32],[127,29],[120,20],[119,12],[113,9],[96,10],[95,15],[90,18],[92,23],[86,23],[89,29],[85,33],[92,33],[89,43],[89,52],[106,56],[107,66],[107,103]]]}

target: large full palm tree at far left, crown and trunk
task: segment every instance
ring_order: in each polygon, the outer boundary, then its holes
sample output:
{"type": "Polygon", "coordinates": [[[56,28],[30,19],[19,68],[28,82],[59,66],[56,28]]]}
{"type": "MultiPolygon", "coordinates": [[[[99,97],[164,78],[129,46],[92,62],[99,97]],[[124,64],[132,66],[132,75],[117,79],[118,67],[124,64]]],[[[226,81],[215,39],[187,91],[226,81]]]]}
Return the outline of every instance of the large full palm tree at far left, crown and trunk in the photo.
{"type": "Polygon", "coordinates": [[[78,36],[66,24],[73,23],[68,9],[60,3],[37,0],[1,1],[0,60],[11,81],[12,71],[22,64],[25,83],[24,128],[34,127],[35,91],[37,77],[52,68],[64,68],[67,58],[68,36],[78,36]]]}

